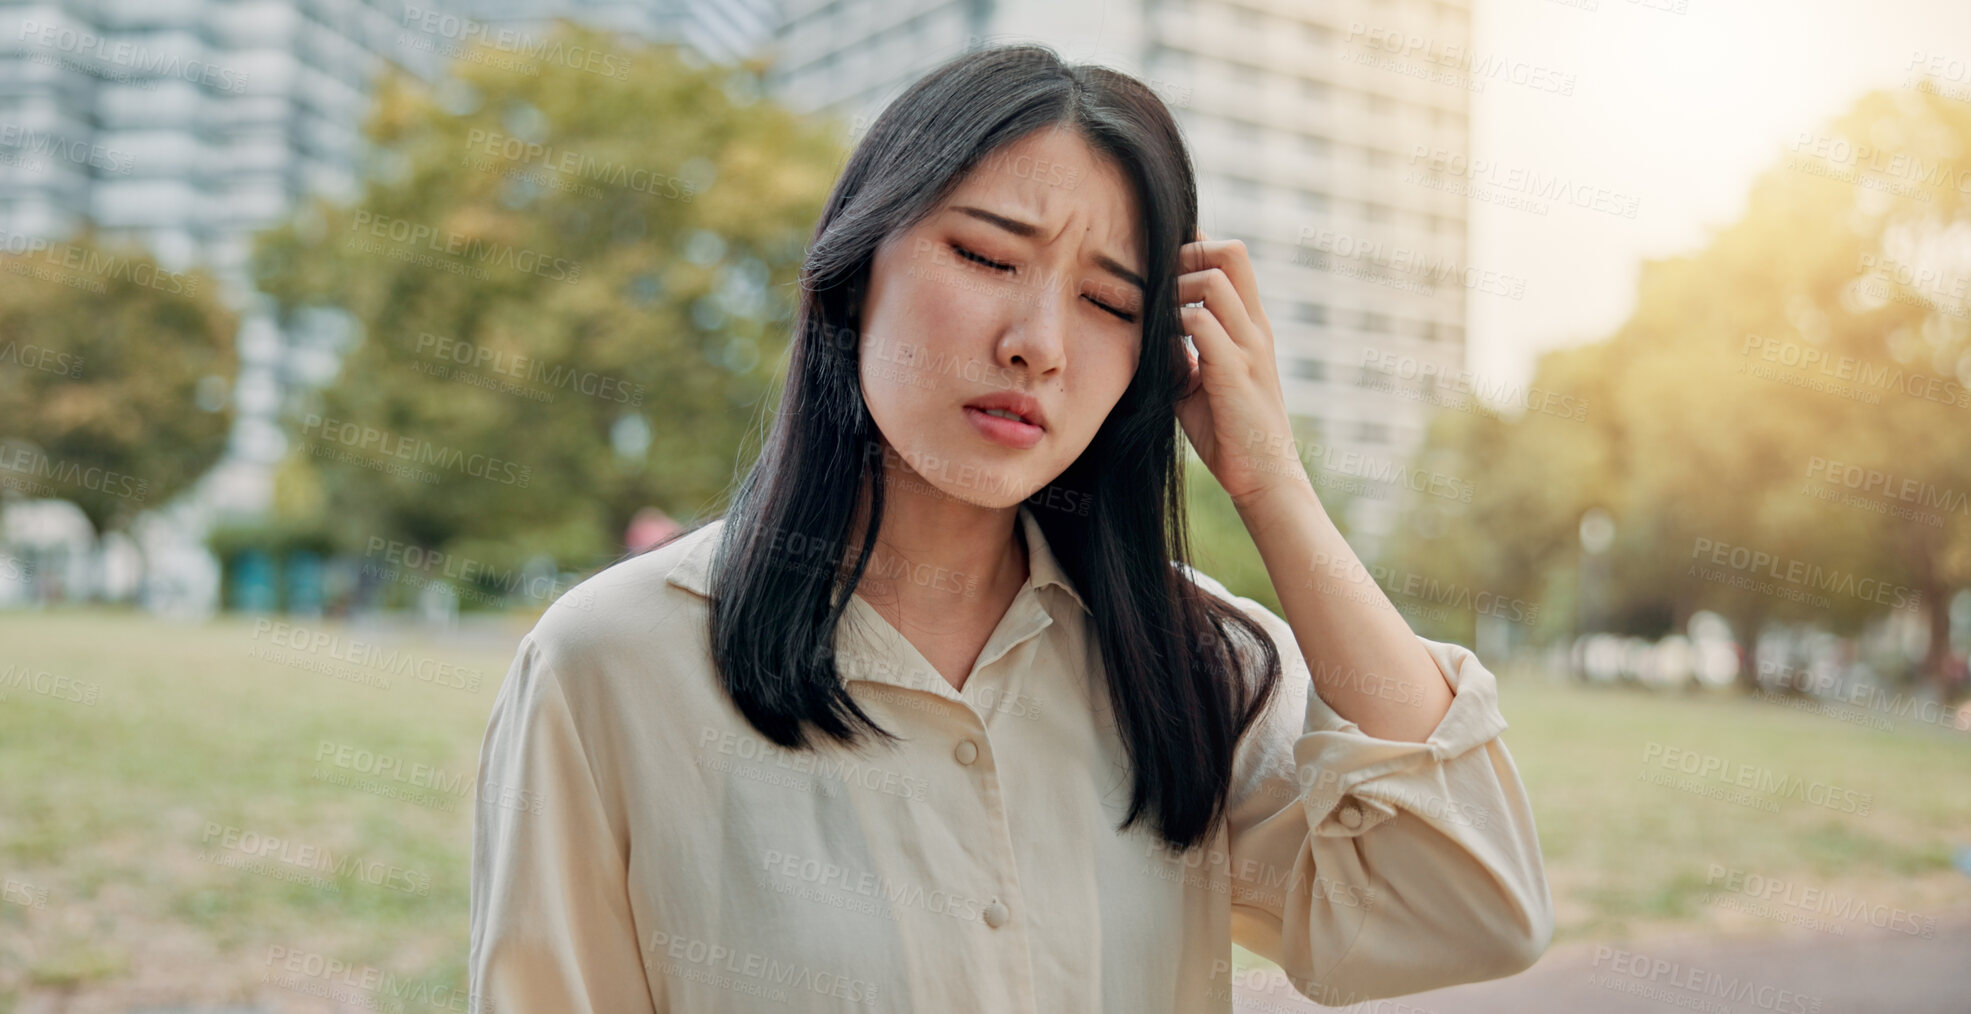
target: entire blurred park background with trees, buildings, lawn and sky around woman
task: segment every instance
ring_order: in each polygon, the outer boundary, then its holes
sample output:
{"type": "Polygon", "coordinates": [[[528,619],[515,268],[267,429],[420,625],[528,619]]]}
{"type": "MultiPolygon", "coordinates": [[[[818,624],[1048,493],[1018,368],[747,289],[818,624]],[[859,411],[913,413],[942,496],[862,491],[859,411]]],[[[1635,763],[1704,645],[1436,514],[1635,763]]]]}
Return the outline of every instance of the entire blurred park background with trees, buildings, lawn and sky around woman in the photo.
{"type": "Polygon", "coordinates": [[[1500,675],[1555,945],[1362,1008],[1971,1010],[1971,8],[10,0],[0,1014],[467,1010],[518,637],[719,513],[846,152],[1003,41],[1169,103],[1500,675]]]}

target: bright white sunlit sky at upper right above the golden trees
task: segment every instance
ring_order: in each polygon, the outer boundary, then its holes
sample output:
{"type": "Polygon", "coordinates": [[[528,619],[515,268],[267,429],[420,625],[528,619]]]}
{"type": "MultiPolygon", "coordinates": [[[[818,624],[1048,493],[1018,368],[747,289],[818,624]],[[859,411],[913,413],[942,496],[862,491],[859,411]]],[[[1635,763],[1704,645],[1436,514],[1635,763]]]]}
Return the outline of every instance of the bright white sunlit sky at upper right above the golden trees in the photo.
{"type": "Polygon", "coordinates": [[[1468,264],[1526,290],[1468,296],[1466,365],[1524,385],[1541,351],[1620,327],[1642,260],[1703,249],[1801,132],[1904,87],[1912,61],[1941,57],[1971,91],[1971,0],[1474,0],[1472,51],[1553,85],[1472,93],[1474,164],[1634,201],[1634,217],[1470,201],[1468,264]]]}

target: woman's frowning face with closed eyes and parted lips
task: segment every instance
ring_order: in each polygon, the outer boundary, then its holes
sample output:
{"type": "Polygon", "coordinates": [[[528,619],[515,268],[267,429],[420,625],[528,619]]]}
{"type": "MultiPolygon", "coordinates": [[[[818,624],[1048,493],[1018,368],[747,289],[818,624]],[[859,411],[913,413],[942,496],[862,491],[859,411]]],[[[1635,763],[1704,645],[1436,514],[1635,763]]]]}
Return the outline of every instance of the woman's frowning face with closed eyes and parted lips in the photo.
{"type": "Polygon", "coordinates": [[[1129,181],[1064,128],[991,152],[885,239],[859,343],[891,475],[1009,507],[1066,471],[1135,375],[1141,249],[1129,181]],[[995,398],[1025,422],[984,412],[995,398]]]}

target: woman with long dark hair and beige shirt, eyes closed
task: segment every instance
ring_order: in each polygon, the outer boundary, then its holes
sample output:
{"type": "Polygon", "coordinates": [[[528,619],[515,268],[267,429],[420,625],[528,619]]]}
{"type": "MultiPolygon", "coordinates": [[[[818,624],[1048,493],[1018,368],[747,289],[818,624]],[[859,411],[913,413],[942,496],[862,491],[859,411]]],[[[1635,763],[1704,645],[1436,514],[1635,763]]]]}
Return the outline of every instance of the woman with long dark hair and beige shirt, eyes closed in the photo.
{"type": "Polygon", "coordinates": [[[1348,1004],[1551,935],[1494,679],[1323,513],[1131,77],[999,47],[897,99],[731,509],[583,588],[481,752],[491,1010],[1230,1010],[1234,941],[1348,1004]],[[1285,619],[1185,562],[1179,428],[1285,619]]]}

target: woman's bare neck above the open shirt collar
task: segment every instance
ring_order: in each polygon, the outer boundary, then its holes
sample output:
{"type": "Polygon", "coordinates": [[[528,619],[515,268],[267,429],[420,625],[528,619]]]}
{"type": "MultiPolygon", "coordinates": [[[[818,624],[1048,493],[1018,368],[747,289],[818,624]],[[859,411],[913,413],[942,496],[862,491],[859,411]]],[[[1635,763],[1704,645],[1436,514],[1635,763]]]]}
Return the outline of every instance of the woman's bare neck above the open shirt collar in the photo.
{"type": "MultiPolygon", "coordinates": [[[[1027,582],[1027,539],[1019,505],[980,507],[950,497],[909,468],[891,462],[883,483],[883,525],[855,594],[893,610],[909,604],[930,627],[1003,606],[1027,582]]],[[[869,523],[869,483],[863,483],[850,523],[844,570],[855,566],[869,523]]]]}

